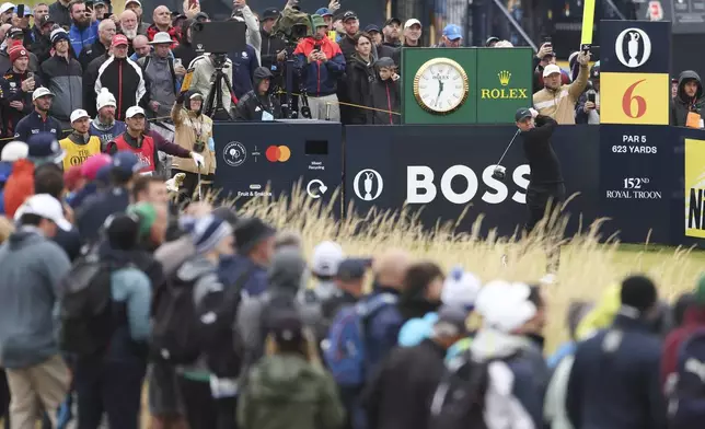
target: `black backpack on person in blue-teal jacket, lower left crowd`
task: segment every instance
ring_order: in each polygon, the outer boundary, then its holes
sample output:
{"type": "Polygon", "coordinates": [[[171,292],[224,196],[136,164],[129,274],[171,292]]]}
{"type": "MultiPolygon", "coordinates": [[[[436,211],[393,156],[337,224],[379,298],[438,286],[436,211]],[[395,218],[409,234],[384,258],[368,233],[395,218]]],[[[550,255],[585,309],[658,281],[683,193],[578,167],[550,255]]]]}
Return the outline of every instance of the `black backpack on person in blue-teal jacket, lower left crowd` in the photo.
{"type": "Polygon", "coordinates": [[[116,268],[91,254],[77,260],[61,280],[61,350],[83,357],[107,349],[115,329],[111,276],[116,268]]]}

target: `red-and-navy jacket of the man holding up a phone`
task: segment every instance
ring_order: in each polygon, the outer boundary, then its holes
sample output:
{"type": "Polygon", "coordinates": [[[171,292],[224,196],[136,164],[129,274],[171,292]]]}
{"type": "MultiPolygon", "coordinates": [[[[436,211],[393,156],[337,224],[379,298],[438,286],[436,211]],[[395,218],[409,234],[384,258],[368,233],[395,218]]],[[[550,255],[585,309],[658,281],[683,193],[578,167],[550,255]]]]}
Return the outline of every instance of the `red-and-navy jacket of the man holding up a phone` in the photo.
{"type": "Polygon", "coordinates": [[[309,96],[325,96],[336,93],[337,81],[345,73],[345,57],[338,44],[327,37],[320,40],[307,37],[299,42],[293,55],[296,68],[301,72],[302,84],[309,96]],[[321,49],[328,60],[309,62],[309,55],[314,49],[321,49]]]}

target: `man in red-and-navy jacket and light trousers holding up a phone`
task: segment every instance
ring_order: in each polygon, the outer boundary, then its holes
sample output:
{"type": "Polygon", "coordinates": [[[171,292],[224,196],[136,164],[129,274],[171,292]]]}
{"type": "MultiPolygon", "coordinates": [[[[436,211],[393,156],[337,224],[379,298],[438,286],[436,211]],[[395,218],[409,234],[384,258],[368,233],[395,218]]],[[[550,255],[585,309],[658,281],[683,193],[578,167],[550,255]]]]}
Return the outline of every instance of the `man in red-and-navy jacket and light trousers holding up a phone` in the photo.
{"type": "Polygon", "coordinates": [[[328,26],[319,15],[311,15],[314,34],[293,51],[296,67],[301,72],[309,95],[313,119],[340,120],[337,80],[345,73],[345,57],[340,47],[327,37],[328,26]]]}

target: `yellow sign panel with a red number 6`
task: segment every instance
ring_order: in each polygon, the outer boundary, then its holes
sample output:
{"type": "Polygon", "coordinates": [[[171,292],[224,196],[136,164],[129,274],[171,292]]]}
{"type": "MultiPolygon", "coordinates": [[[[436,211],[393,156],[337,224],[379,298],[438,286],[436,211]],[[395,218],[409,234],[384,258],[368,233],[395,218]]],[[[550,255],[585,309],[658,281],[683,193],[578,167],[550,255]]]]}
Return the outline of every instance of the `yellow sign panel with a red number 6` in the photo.
{"type": "Polygon", "coordinates": [[[600,123],[669,124],[668,74],[603,72],[600,78],[600,123]]]}

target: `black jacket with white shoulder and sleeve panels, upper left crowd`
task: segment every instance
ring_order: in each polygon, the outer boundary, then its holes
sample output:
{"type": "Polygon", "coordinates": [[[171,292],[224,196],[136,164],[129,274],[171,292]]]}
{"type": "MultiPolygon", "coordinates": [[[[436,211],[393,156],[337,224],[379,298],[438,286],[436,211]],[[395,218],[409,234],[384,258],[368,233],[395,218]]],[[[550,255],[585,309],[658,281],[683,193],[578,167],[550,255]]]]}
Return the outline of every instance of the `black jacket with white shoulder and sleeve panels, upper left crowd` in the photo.
{"type": "MultiPolygon", "coordinates": [[[[147,93],[142,69],[129,58],[109,57],[97,71],[95,80],[95,96],[103,88],[117,98],[115,118],[125,120],[125,113],[131,106],[137,106],[147,93]]],[[[95,103],[93,103],[95,104],[95,103]]]]}

